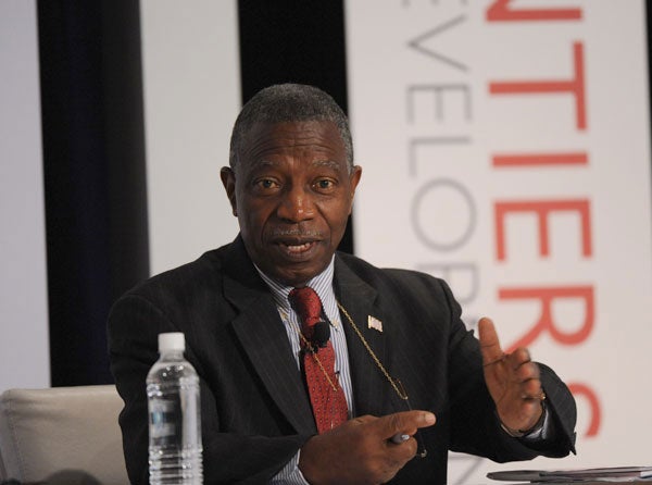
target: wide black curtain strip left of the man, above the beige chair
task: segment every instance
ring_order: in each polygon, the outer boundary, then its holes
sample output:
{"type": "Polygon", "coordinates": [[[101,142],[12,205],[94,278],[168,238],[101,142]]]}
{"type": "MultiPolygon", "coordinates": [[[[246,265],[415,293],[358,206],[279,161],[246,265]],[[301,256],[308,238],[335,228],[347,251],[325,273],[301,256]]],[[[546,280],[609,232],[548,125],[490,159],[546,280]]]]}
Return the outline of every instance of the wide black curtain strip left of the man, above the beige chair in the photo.
{"type": "Polygon", "coordinates": [[[112,382],[105,322],[149,274],[137,1],[38,1],[51,383],[112,382]]]}

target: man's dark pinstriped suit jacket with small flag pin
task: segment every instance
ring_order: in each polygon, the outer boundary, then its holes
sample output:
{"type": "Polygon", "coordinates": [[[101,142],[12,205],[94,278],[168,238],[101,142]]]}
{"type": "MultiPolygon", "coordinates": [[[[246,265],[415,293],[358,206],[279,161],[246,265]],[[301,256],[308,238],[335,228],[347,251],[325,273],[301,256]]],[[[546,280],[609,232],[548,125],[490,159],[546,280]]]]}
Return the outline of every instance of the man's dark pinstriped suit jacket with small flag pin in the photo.
{"type": "MultiPolygon", "coordinates": [[[[419,432],[427,457],[409,462],[392,483],[446,483],[449,449],[496,461],[561,457],[573,449],[575,402],[546,366],[542,382],[557,439],[537,451],[500,430],[478,341],[442,281],[338,253],[334,286],[380,361],[403,383],[412,408],[437,415],[435,426],[419,432]],[[368,315],[383,322],[381,333],[367,327],[368,315]]],[[[344,319],[342,325],[355,415],[406,410],[351,325],[344,319]]],[[[148,482],[145,382],[162,332],[186,335],[186,356],[200,375],[206,484],[264,483],[316,433],[285,327],[238,237],[137,286],[111,312],[111,370],[125,401],[120,424],[131,482],[148,482]]]]}

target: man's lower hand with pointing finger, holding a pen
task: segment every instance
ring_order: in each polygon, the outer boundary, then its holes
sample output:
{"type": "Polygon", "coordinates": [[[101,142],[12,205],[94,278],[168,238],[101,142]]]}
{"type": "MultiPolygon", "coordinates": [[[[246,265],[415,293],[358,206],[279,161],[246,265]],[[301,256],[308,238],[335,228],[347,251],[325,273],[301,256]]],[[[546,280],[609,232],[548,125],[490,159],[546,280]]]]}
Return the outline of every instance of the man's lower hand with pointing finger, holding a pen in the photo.
{"type": "Polygon", "coordinates": [[[315,485],[386,483],[414,458],[417,428],[432,424],[435,414],[427,411],[354,418],[310,438],[301,448],[299,469],[315,485]],[[392,443],[397,434],[409,438],[392,443]]]}

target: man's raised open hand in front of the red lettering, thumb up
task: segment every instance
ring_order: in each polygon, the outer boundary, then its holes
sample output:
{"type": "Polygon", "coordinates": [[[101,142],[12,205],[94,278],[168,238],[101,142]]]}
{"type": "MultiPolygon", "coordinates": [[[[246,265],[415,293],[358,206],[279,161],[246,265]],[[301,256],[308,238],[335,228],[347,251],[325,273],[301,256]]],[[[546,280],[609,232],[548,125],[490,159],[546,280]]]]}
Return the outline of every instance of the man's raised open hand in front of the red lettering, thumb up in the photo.
{"type": "Polygon", "coordinates": [[[504,353],[490,319],[480,319],[478,334],[485,382],[501,422],[512,433],[532,428],[541,418],[541,401],[546,399],[539,366],[525,348],[504,353]]]}

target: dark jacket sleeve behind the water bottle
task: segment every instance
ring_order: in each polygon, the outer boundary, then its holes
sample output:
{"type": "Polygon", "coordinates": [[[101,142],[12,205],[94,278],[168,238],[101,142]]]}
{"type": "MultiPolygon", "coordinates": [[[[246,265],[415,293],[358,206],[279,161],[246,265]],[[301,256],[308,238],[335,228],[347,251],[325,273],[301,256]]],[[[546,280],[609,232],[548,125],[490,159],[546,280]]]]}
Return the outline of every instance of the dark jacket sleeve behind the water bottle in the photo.
{"type": "MultiPolygon", "coordinates": [[[[111,372],[125,402],[120,425],[127,472],[134,484],[149,482],[146,378],[158,359],[158,334],[179,331],[156,306],[138,295],[121,298],[109,318],[111,372]]],[[[215,396],[202,378],[191,348],[186,357],[200,374],[204,482],[263,483],[272,478],[310,436],[221,433],[215,396]]]]}

